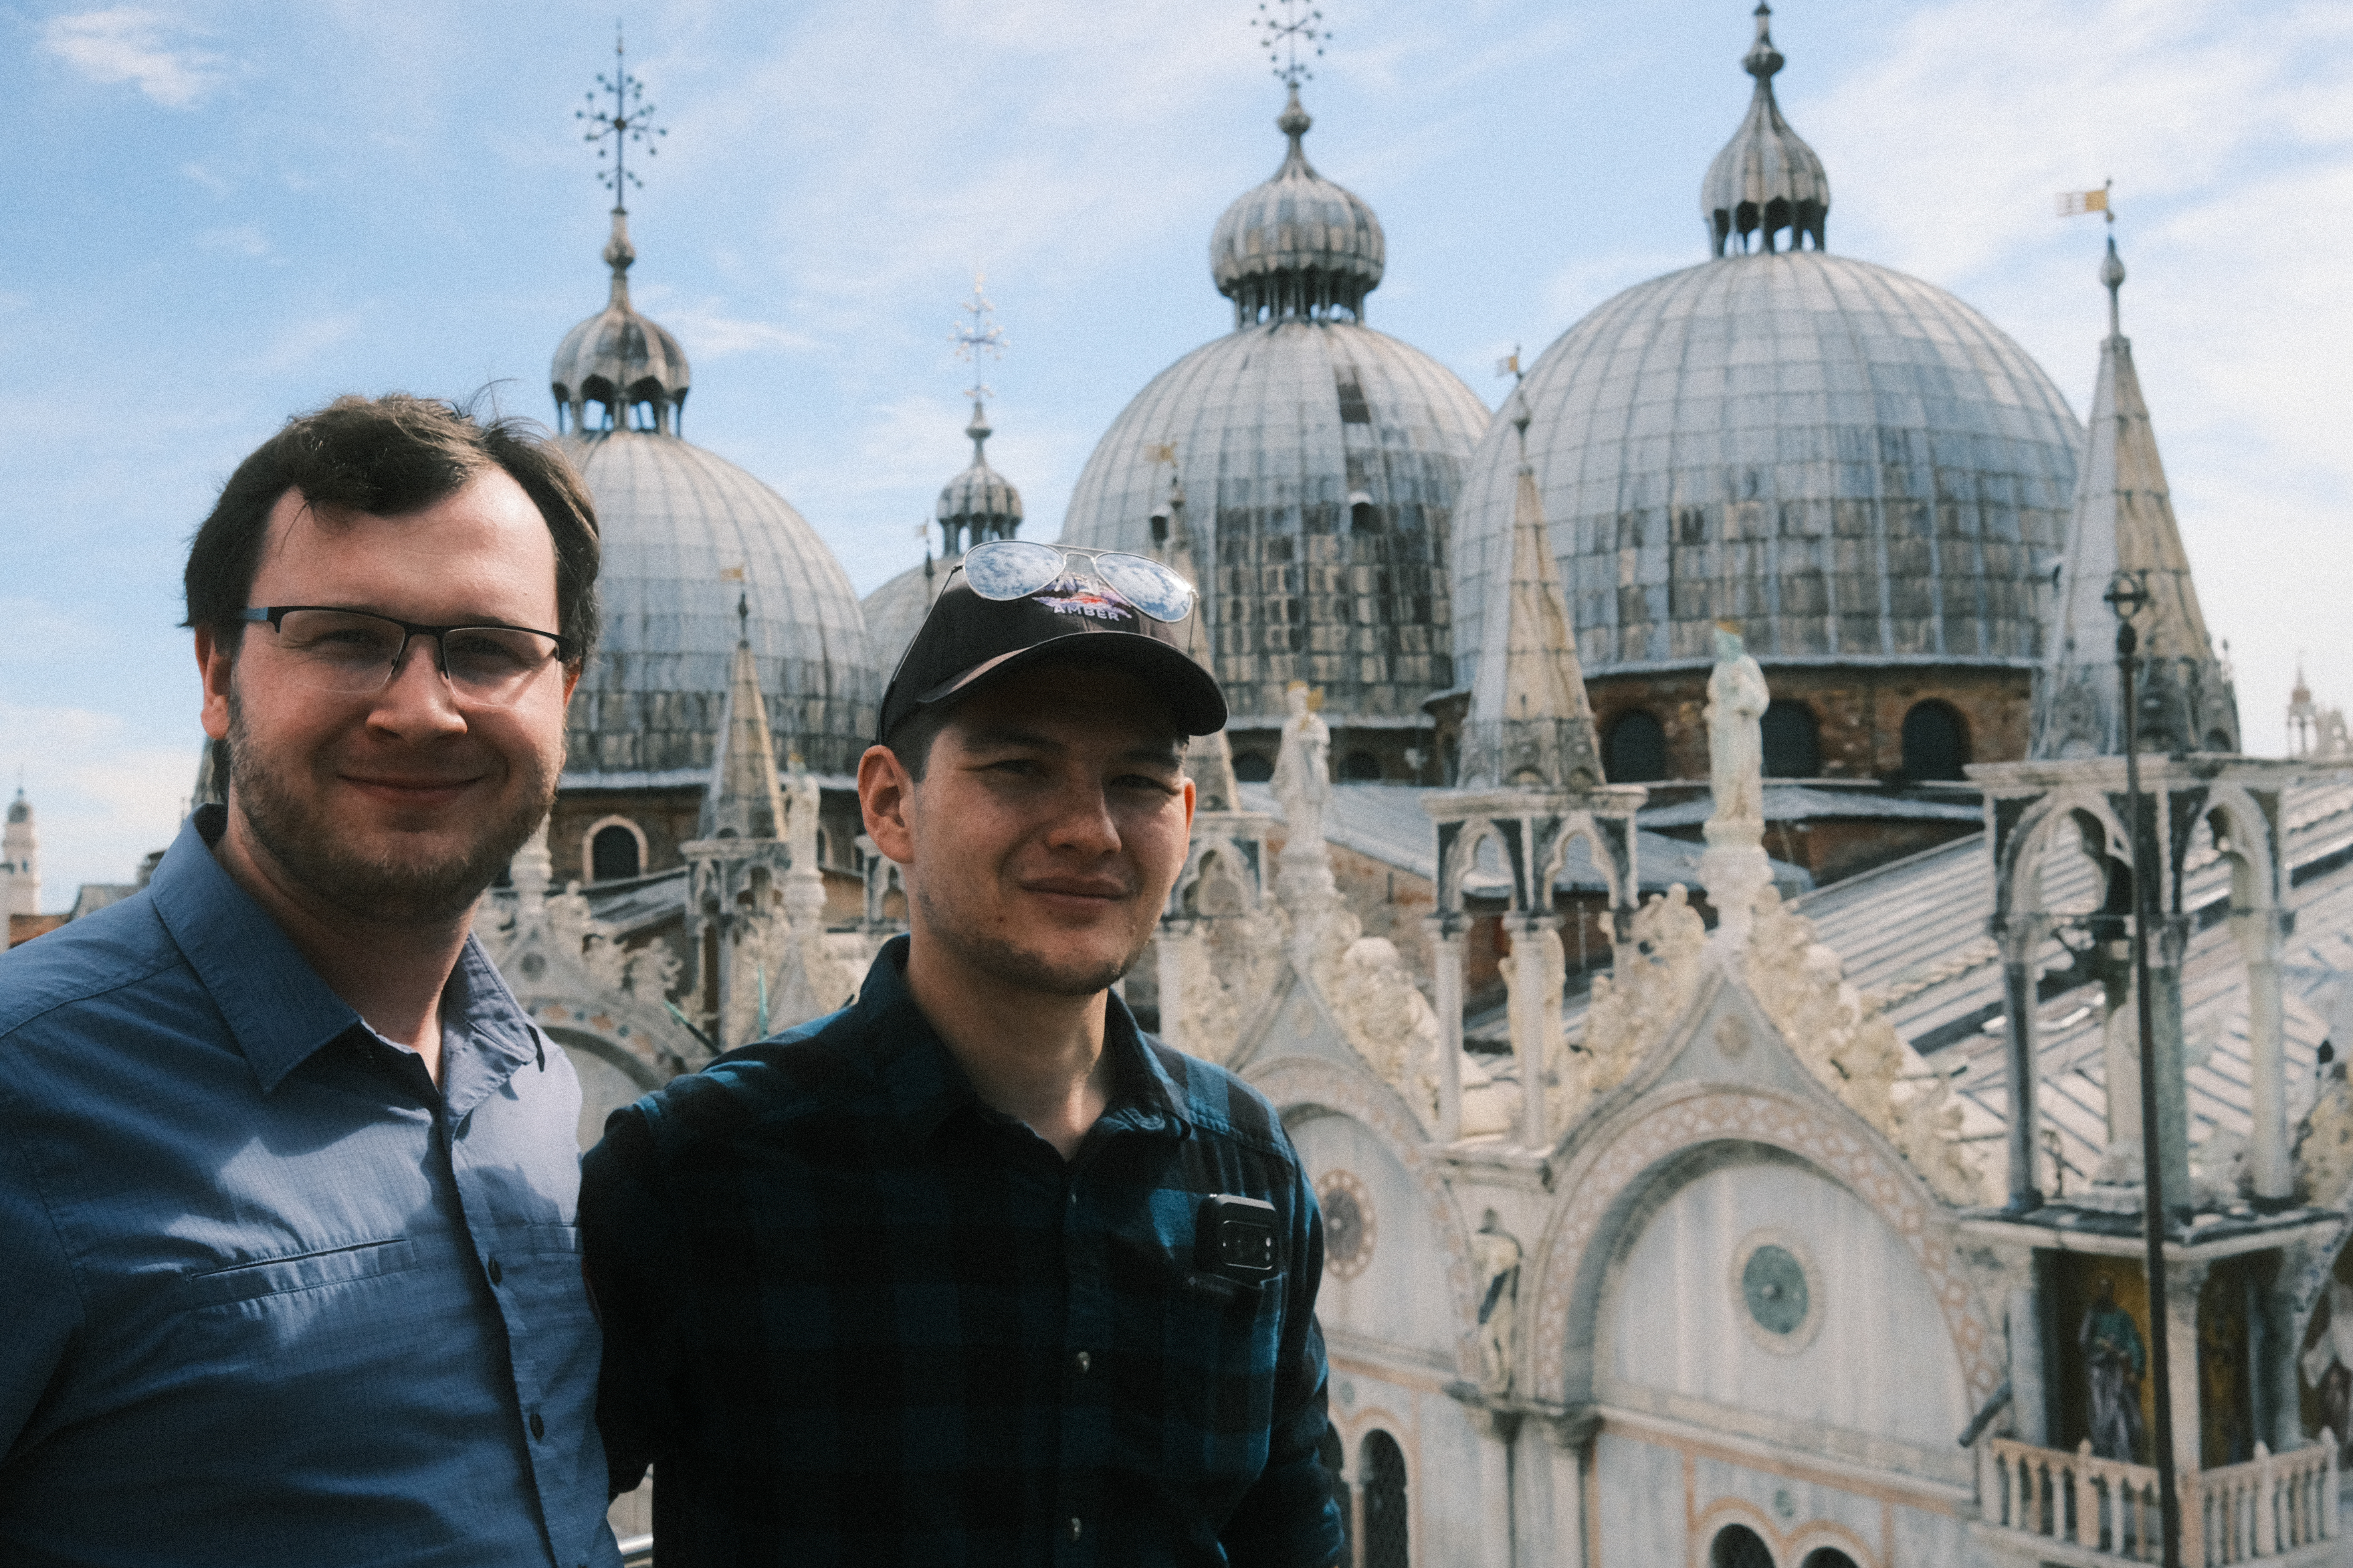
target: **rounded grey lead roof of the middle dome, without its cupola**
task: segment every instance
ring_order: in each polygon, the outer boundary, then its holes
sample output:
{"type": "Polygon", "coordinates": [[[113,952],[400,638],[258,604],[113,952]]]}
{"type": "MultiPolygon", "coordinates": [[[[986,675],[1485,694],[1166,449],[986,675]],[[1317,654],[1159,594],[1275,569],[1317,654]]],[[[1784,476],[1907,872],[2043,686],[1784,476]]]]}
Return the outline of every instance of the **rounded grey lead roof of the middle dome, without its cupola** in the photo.
{"type": "Polygon", "coordinates": [[[1061,536],[1160,550],[1153,512],[1176,477],[1235,717],[1280,717],[1304,679],[1332,722],[1421,726],[1421,701],[1454,684],[1445,541],[1485,425],[1454,371],[1372,327],[1245,327],[1136,393],[1061,536]]]}

